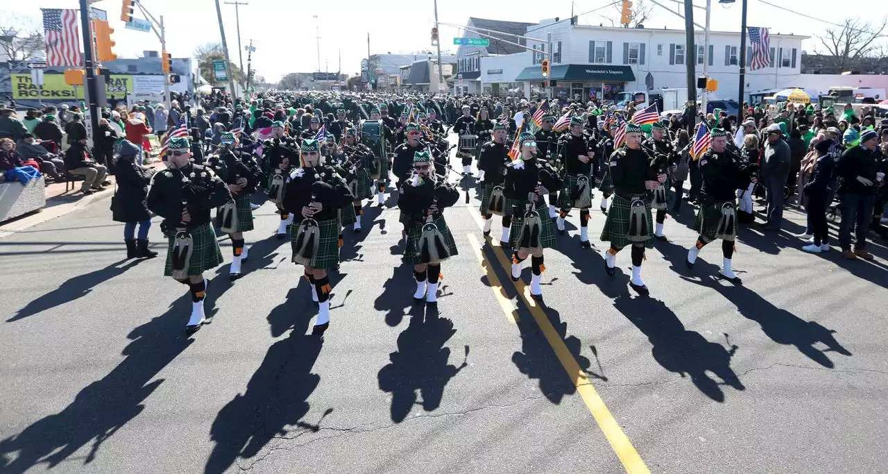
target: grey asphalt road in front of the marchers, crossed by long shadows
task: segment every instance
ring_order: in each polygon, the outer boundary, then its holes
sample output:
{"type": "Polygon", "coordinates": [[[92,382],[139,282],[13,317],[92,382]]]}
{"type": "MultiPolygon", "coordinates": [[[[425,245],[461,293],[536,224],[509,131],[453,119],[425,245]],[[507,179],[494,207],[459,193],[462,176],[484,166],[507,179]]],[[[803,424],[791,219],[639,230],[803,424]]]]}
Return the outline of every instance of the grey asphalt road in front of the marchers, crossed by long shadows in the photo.
{"type": "Polygon", "coordinates": [[[247,273],[207,273],[212,322],[186,338],[158,219],[161,257],[125,261],[108,202],[0,239],[4,473],[888,471],[883,243],[845,262],[744,229],[734,287],[718,246],[686,269],[686,206],[638,296],[628,254],[604,273],[595,210],[595,249],[568,225],[536,305],[498,222],[482,247],[472,192],[446,214],[460,253],[434,312],[413,304],[390,199],[346,233],[319,339],[266,204],[247,273]]]}

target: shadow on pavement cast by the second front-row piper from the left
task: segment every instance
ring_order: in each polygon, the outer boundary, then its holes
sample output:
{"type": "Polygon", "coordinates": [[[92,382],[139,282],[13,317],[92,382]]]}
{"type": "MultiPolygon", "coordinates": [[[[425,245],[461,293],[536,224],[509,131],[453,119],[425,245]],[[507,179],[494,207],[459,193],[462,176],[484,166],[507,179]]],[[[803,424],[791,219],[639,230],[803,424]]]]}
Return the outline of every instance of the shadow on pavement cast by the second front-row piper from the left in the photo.
{"type": "Polygon", "coordinates": [[[309,410],[308,398],[321,382],[321,375],[313,374],[312,368],[321,353],[323,337],[305,334],[311,313],[297,311],[305,303],[296,294],[297,288],[291,289],[287,301],[268,316],[273,335],[281,328],[292,327],[289,337],[268,348],[247,390],[216,415],[210,428],[216,446],[205,472],[225,472],[238,458],[255,456],[274,438],[297,438],[305,432],[319,431],[323,417],[333,412],[328,408],[317,423],[303,419],[309,410]]]}

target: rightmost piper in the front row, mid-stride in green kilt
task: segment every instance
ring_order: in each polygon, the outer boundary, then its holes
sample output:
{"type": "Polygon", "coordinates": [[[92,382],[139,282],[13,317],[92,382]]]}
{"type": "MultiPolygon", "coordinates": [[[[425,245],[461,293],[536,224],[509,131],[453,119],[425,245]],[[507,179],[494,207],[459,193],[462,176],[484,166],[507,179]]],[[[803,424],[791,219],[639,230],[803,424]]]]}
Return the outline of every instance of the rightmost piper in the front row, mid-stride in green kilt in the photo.
{"type": "Polygon", "coordinates": [[[722,129],[710,131],[710,149],[700,157],[703,183],[700,209],[694,221],[694,229],[700,233],[697,241],[687,250],[687,267],[691,268],[704,245],[716,239],[722,240],[722,267],[718,278],[741,283],[740,277],[731,270],[734,241],[737,236],[736,190],[756,183],[757,164],[741,166],[741,159],[727,149],[727,134],[722,129]]]}

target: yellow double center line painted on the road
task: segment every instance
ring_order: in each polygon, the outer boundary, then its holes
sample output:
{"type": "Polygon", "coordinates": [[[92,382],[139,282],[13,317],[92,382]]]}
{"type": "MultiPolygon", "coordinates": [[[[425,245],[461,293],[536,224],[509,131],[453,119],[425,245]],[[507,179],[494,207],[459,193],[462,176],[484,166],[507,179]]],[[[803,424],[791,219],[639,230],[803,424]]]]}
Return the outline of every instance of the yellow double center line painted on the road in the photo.
{"type": "MultiPolygon", "coordinates": [[[[472,218],[475,219],[479,228],[482,228],[483,221],[478,215],[478,212],[474,212],[473,208],[467,208],[466,210],[468,210],[472,218]]],[[[492,265],[484,258],[478,237],[473,233],[468,233],[466,236],[472,244],[472,248],[475,250],[475,257],[478,257],[481,265],[492,265]]],[[[509,257],[506,257],[499,242],[491,241],[491,246],[496,253],[496,258],[499,260],[500,265],[503,266],[506,273],[511,274],[511,260],[509,257]]],[[[512,323],[516,323],[518,321],[518,309],[512,304],[511,299],[503,294],[503,287],[492,268],[487,272],[487,275],[488,282],[493,289],[497,303],[499,303],[500,307],[503,309],[506,317],[509,318],[512,323]]],[[[561,362],[561,367],[564,367],[567,376],[569,376],[571,382],[574,383],[576,391],[580,394],[586,407],[589,408],[589,411],[595,418],[595,422],[599,424],[599,428],[604,433],[605,438],[607,438],[607,442],[610,443],[611,447],[614,449],[614,453],[620,458],[620,462],[622,462],[626,472],[629,472],[630,474],[649,474],[650,470],[647,469],[645,462],[641,460],[641,456],[638,455],[635,446],[632,446],[626,433],[622,431],[620,424],[616,423],[614,415],[612,415],[610,410],[607,409],[604,400],[599,396],[599,392],[595,390],[589,377],[586,376],[586,373],[580,368],[580,364],[574,359],[573,354],[567,349],[567,345],[564,344],[558,331],[552,327],[551,321],[546,316],[545,312],[543,312],[543,308],[541,308],[539,304],[536,304],[536,300],[530,296],[530,288],[526,287],[523,280],[519,280],[515,282],[515,289],[518,290],[518,294],[523,298],[528,311],[536,321],[536,325],[543,331],[543,336],[546,337],[546,341],[549,342],[549,345],[561,362]]]]}

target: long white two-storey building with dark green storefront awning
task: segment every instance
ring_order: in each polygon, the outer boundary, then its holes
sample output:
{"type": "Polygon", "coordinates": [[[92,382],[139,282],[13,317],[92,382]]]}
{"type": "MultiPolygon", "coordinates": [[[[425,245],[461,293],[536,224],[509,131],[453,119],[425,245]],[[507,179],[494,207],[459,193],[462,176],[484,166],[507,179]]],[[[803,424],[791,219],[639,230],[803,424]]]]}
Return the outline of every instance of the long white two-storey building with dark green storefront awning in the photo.
{"type": "MultiPolygon", "coordinates": [[[[543,20],[524,35],[540,38],[530,47],[544,51],[552,44],[549,80],[558,97],[622,99],[620,92],[656,93],[662,88],[687,87],[686,61],[695,61],[695,75],[703,74],[703,33],[694,36],[695,54],[685,51],[684,30],[609,28],[571,24],[570,19],[543,20]]],[[[801,46],[806,36],[771,35],[772,63],[746,73],[745,94],[799,83],[801,46]]],[[[718,80],[720,99],[736,99],[739,91],[739,32],[710,32],[709,75],[718,80]]],[[[747,48],[747,58],[751,47],[747,48]]],[[[544,95],[540,63],[535,51],[480,59],[480,91],[503,94],[520,83],[523,95],[544,95]],[[521,67],[523,66],[523,67],[521,67]],[[517,75],[516,69],[521,67],[517,75]],[[503,87],[505,84],[505,88],[503,87]]]]}

